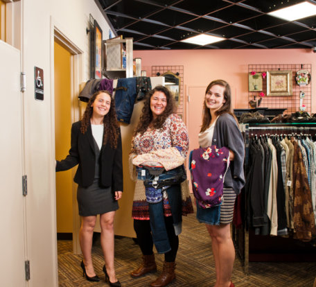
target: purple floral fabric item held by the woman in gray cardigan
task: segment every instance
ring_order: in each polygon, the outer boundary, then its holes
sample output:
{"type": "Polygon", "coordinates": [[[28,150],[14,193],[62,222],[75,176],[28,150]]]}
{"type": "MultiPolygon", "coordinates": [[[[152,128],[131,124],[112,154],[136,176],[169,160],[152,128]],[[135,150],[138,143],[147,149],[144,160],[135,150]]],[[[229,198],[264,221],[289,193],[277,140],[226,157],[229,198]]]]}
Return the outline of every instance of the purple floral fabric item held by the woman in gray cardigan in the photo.
{"type": "Polygon", "coordinates": [[[221,205],[224,177],[229,167],[229,149],[210,146],[191,150],[188,164],[193,194],[200,207],[221,205]]]}

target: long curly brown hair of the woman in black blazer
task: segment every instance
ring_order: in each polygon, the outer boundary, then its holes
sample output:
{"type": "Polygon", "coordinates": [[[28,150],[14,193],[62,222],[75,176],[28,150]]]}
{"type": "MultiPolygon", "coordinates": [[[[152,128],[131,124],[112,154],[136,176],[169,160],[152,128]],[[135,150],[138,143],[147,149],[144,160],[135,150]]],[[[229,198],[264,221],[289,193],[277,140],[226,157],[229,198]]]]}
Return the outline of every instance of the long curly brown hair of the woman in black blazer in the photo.
{"type": "Polygon", "coordinates": [[[82,132],[82,134],[85,134],[85,132],[87,132],[87,128],[91,124],[90,119],[94,111],[94,108],[91,107],[91,105],[96,100],[96,97],[102,93],[108,94],[109,97],[111,98],[111,105],[109,107],[109,112],[103,118],[103,126],[104,126],[103,144],[109,141],[111,147],[116,148],[117,139],[119,138],[120,128],[119,128],[119,123],[116,120],[114,98],[112,98],[112,94],[107,91],[100,90],[91,96],[87,104],[85,113],[82,116],[80,131],[82,132]]]}

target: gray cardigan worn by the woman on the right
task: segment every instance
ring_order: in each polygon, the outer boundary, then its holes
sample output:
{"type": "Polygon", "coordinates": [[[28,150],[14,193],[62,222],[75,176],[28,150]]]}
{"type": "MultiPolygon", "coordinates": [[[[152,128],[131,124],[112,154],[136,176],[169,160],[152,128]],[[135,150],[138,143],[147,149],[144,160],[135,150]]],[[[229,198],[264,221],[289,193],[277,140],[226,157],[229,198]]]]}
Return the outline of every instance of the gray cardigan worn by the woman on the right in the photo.
{"type": "Polygon", "coordinates": [[[245,185],[243,163],[245,158],[245,145],[243,136],[231,114],[221,114],[215,124],[212,145],[218,148],[225,146],[235,154],[234,161],[230,163],[225,175],[224,186],[232,187],[238,195],[245,185]]]}

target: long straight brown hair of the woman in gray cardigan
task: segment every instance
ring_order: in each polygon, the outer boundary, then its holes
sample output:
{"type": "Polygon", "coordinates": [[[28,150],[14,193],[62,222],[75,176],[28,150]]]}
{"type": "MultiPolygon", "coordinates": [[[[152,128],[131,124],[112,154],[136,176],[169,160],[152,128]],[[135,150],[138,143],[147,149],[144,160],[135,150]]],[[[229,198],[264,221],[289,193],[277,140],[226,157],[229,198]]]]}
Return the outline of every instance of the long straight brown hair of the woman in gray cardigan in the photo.
{"type": "MultiPolygon", "coordinates": [[[[222,107],[220,107],[216,112],[216,116],[220,116],[220,114],[231,114],[231,116],[234,116],[234,119],[236,120],[236,123],[238,123],[236,116],[231,112],[231,87],[229,86],[229,83],[225,80],[213,80],[209,83],[207,86],[207,90],[205,91],[205,95],[207,92],[209,92],[209,89],[213,87],[213,85],[220,85],[222,87],[225,87],[224,90],[224,99],[225,103],[223,103],[222,107]]],[[[207,104],[205,103],[205,96],[203,100],[203,119],[202,119],[202,125],[200,132],[204,132],[209,128],[209,125],[211,124],[211,113],[209,112],[209,108],[207,107],[207,104]]]]}

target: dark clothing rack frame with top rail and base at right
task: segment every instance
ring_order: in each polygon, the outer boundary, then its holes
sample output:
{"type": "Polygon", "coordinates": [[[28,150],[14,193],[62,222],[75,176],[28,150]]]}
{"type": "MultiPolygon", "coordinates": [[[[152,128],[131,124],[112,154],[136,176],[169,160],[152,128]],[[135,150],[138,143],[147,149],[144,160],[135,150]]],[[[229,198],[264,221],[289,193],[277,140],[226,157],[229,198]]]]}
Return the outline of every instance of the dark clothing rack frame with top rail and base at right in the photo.
{"type": "MultiPolygon", "coordinates": [[[[265,124],[249,124],[249,123],[240,123],[239,125],[240,132],[243,133],[243,137],[245,139],[245,163],[247,163],[248,159],[248,150],[249,150],[249,137],[252,136],[261,136],[261,135],[270,135],[273,136],[275,134],[284,134],[284,135],[291,135],[291,136],[314,136],[316,135],[316,123],[265,123],[265,124]]],[[[245,194],[241,194],[242,202],[245,203],[245,194]]],[[[302,243],[297,239],[293,238],[283,238],[281,236],[256,236],[255,240],[254,238],[254,232],[252,229],[247,229],[245,218],[243,220],[243,224],[241,227],[236,227],[234,224],[231,227],[231,234],[236,250],[236,255],[240,259],[241,263],[244,267],[245,274],[249,274],[249,258],[252,257],[250,261],[315,261],[316,258],[316,248],[315,245],[310,245],[310,243],[302,243]],[[270,250],[267,250],[267,256],[264,256],[264,254],[261,254],[260,260],[253,260],[254,255],[256,254],[249,254],[249,245],[253,244],[253,241],[260,241],[260,239],[263,239],[261,244],[263,246],[267,246],[267,248],[270,248],[272,244],[277,243],[282,245],[290,244],[295,245],[293,248],[293,252],[295,252],[295,248],[297,244],[299,244],[299,247],[304,247],[308,245],[308,248],[310,248],[311,252],[308,255],[311,255],[310,257],[306,256],[306,254],[285,254],[285,256],[280,254],[270,254],[270,250]],[[271,241],[272,243],[270,243],[271,241]],[[250,244],[249,244],[250,243],[250,244]],[[270,256],[271,255],[271,256],[270,256]],[[278,258],[279,256],[279,258],[278,258]],[[296,256],[296,258],[295,258],[296,256]],[[283,257],[283,258],[281,258],[283,257]],[[308,257],[308,258],[307,258],[308,257]],[[314,258],[314,259],[313,259],[314,258]],[[272,259],[272,260],[270,260],[272,259]],[[294,260],[293,260],[294,259],[294,260]]]]}

